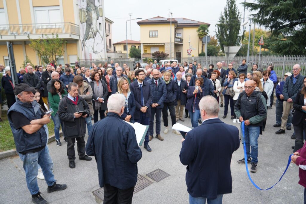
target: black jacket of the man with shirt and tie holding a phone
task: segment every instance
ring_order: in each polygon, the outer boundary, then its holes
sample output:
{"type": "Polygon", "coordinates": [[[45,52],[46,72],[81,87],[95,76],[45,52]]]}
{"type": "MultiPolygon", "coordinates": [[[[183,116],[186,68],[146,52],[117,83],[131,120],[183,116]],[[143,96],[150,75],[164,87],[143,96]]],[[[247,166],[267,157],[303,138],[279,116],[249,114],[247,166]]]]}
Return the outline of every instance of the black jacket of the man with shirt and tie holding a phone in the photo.
{"type": "Polygon", "coordinates": [[[76,138],[85,136],[86,133],[86,121],[82,116],[74,118],[74,113],[79,111],[86,111],[87,117],[90,114],[89,106],[84,98],[78,96],[77,104],[73,102],[65,95],[58,104],[58,117],[65,125],[63,128],[64,135],[69,138],[76,138]]]}

